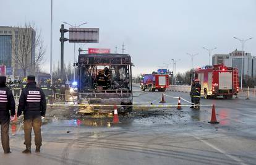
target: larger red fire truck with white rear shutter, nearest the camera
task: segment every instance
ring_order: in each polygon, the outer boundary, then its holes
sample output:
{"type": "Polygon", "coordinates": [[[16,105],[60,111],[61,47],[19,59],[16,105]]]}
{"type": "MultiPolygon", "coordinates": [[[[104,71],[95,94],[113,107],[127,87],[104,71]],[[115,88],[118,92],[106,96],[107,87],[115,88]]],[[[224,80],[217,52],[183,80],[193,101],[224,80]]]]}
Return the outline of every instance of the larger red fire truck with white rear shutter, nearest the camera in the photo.
{"type": "Polygon", "coordinates": [[[201,96],[231,99],[239,91],[238,70],[223,65],[205,66],[195,70],[195,78],[200,80],[201,96]]]}

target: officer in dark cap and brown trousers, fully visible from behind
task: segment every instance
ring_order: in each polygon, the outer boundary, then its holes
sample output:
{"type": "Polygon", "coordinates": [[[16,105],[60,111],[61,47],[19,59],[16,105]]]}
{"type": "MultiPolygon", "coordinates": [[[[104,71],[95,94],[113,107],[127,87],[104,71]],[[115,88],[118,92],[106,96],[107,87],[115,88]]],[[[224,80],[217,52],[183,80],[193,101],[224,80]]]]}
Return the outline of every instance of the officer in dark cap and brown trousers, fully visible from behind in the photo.
{"type": "Polygon", "coordinates": [[[27,86],[23,88],[19,99],[17,116],[24,115],[24,136],[26,149],[22,153],[31,153],[31,132],[32,127],[35,133],[36,152],[41,147],[41,117],[45,117],[46,99],[43,90],[36,87],[35,76],[28,75],[27,86]]]}

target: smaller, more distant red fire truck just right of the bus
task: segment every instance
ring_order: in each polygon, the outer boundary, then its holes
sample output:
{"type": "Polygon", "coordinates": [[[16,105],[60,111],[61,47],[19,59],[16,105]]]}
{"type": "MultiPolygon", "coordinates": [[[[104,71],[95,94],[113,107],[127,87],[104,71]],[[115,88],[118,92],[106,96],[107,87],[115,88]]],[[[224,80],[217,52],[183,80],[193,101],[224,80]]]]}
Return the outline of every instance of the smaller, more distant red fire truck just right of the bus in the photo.
{"type": "Polygon", "coordinates": [[[140,82],[140,88],[145,91],[165,91],[169,88],[168,74],[145,74],[140,82]]]}

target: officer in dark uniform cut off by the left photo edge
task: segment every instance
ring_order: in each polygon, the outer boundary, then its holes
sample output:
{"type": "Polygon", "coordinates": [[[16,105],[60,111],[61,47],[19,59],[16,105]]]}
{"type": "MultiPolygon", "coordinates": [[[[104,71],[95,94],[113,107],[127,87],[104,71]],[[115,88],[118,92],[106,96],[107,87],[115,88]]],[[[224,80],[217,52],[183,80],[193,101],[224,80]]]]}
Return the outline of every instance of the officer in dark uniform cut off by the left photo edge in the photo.
{"type": "Polygon", "coordinates": [[[1,124],[1,141],[4,153],[11,153],[9,143],[9,124],[10,111],[11,116],[15,115],[15,100],[12,91],[6,87],[6,77],[0,76],[0,124],[1,124]]]}

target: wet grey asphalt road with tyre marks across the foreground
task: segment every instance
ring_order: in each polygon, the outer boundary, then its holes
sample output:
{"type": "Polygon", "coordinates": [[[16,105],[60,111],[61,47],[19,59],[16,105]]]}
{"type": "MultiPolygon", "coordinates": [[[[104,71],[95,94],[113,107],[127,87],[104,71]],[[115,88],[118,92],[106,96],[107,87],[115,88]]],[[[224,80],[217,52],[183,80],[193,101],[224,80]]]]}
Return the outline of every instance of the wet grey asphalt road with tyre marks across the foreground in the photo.
{"type": "MultiPolygon", "coordinates": [[[[188,93],[165,94],[190,99],[188,93]]],[[[160,104],[160,92],[134,96],[135,104],[160,104]]],[[[165,104],[177,104],[177,98],[165,99],[165,104]]],[[[209,106],[200,111],[137,109],[119,115],[121,124],[116,125],[111,116],[69,116],[74,109],[59,108],[69,117],[46,118],[40,154],[34,152],[35,146],[32,154],[22,154],[23,130],[11,125],[12,154],[1,151],[0,164],[256,164],[256,99],[201,100],[213,103],[220,124],[208,124],[209,106]]]]}

